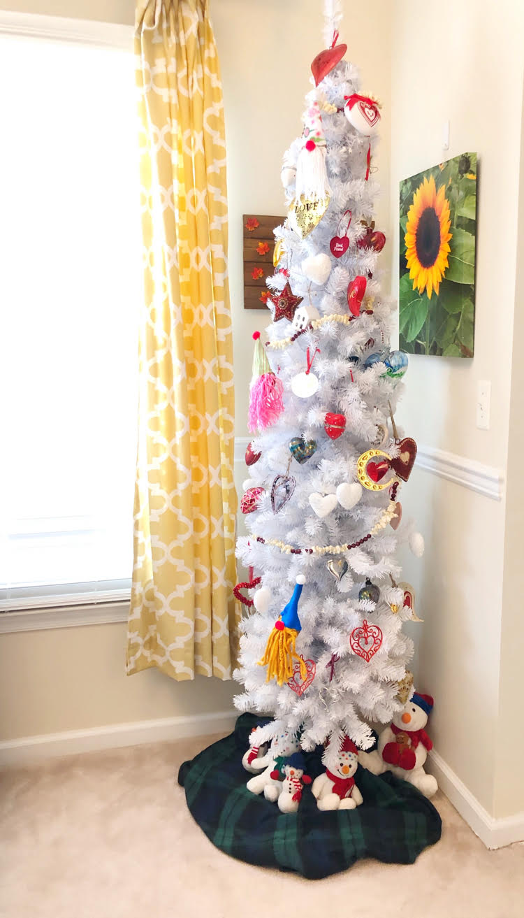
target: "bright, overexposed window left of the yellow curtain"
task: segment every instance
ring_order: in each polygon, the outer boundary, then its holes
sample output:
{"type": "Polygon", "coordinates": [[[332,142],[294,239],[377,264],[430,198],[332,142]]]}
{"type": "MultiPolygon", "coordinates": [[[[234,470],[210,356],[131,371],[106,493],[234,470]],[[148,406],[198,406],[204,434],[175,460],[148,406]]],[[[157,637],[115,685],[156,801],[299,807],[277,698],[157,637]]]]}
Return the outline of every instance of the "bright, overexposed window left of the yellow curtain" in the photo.
{"type": "Polygon", "coordinates": [[[0,609],[126,598],[141,298],[132,49],[0,35],[0,83],[0,609]]]}

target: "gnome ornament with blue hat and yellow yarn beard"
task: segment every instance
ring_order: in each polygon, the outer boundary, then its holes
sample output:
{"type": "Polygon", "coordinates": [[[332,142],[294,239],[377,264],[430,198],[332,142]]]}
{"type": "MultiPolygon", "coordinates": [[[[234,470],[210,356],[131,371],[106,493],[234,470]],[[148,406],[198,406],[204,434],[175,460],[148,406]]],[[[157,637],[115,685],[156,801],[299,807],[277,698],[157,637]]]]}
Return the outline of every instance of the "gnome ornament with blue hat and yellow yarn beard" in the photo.
{"type": "Polygon", "coordinates": [[[307,667],[303,657],[296,653],[295,643],[302,625],[298,618],[298,600],[306,577],[299,574],[293,596],[282,610],[278,621],[275,621],[272,633],[268,638],[264,655],[259,666],[267,666],[266,682],[275,678],[278,685],[284,685],[293,676],[295,661],[300,666],[300,677],[306,679],[307,667]]]}

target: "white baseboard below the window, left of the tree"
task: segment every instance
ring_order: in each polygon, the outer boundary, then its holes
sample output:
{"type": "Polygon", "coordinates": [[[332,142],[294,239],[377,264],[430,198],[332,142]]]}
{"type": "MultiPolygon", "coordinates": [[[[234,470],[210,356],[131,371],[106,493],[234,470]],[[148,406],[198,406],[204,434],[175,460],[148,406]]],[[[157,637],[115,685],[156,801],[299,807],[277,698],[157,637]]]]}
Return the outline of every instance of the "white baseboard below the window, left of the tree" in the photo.
{"type": "Polygon", "coordinates": [[[88,730],[68,730],[41,736],[22,736],[0,742],[0,766],[30,765],[54,756],[73,756],[122,746],[182,740],[210,733],[229,733],[238,711],[217,711],[191,717],[162,717],[154,721],[110,723],[88,730]]]}

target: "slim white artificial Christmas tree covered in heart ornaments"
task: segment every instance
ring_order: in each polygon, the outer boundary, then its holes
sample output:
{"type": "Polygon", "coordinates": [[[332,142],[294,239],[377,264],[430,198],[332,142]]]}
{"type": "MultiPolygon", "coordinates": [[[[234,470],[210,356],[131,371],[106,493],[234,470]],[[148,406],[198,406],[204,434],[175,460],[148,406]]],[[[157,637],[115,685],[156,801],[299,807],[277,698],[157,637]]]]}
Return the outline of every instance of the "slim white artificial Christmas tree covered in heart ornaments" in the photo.
{"type": "Polygon", "coordinates": [[[304,133],[284,154],[273,321],[255,344],[250,534],[237,554],[262,583],[235,674],[239,710],[274,718],[255,746],[283,730],[306,751],[329,740],[328,764],[345,736],[369,748],[369,722],[390,722],[406,701],[413,609],[396,553],[402,541],[423,550],[419,533],[398,527],[416,446],[392,427],[407,358],[389,350],[395,305],[381,293],[385,238],[373,229],[379,106],[342,60],[329,7],[333,44],[312,65],[304,133]]]}

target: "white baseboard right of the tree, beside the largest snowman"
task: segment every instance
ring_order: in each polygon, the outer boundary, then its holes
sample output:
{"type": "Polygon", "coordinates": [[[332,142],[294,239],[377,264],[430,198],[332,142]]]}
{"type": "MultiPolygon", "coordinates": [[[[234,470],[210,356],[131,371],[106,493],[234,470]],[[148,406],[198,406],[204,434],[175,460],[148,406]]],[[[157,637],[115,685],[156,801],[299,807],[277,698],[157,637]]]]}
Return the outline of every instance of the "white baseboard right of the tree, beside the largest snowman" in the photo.
{"type": "Polygon", "coordinates": [[[434,749],[428,756],[426,770],[437,778],[440,790],[461,814],[487,848],[502,848],[524,841],[524,812],[496,819],[468,790],[452,768],[434,749]]]}

